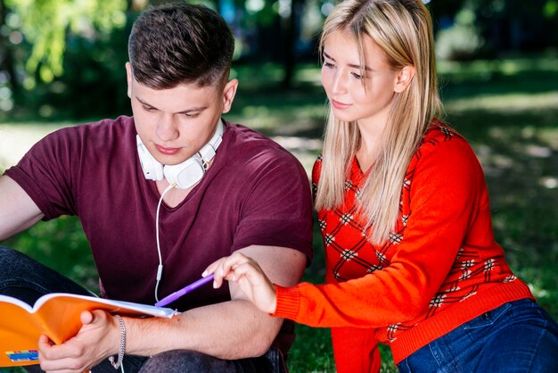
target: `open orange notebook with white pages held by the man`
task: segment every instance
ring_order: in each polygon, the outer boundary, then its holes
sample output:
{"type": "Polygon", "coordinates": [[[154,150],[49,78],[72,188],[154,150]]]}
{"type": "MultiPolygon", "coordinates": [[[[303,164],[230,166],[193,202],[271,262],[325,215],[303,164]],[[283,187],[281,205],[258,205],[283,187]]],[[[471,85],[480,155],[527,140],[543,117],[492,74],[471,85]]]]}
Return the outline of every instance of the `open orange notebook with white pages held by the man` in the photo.
{"type": "Polygon", "coordinates": [[[0,367],[37,364],[39,336],[62,344],[78,334],[81,312],[93,310],[135,317],[171,318],[176,314],[169,308],[77,294],[46,294],[33,307],[0,295],[0,367]]]}

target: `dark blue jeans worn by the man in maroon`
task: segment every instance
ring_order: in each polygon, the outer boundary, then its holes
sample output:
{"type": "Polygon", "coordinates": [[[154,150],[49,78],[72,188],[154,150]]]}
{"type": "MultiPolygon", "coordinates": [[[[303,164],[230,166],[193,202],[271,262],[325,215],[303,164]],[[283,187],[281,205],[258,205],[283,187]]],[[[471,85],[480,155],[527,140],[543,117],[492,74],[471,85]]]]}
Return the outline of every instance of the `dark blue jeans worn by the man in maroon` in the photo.
{"type": "MultiPolygon", "coordinates": [[[[0,246],[0,294],[10,295],[29,304],[49,293],[94,295],[70,278],[49,269],[15,250],[0,246]]],[[[226,361],[200,352],[168,351],[150,358],[125,355],[124,372],[193,372],[193,373],[264,373],[287,371],[283,355],[275,348],[258,358],[226,361]]],[[[25,367],[29,372],[42,372],[38,365],[25,367]]],[[[119,373],[108,360],[93,373],[119,373]]]]}

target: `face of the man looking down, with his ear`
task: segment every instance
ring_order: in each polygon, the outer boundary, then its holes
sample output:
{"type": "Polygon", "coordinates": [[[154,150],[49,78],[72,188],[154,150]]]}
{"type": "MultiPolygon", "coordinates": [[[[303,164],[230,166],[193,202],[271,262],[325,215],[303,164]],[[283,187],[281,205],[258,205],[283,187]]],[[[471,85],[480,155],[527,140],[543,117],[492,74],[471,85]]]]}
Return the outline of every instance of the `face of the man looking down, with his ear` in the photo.
{"type": "Polygon", "coordinates": [[[138,83],[129,63],[126,69],[135,130],[153,157],[168,165],[184,162],[209,142],[238,85],[233,79],[225,88],[184,84],[157,90],[138,83]]]}

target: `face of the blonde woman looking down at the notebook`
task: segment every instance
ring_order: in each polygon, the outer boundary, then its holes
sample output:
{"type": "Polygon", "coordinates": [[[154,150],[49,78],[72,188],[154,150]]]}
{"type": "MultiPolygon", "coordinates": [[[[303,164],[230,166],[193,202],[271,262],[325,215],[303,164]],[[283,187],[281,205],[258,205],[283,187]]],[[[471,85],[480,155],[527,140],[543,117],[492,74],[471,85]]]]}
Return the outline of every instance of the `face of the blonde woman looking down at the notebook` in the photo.
{"type": "Polygon", "coordinates": [[[326,37],[322,85],[337,119],[383,127],[395,97],[398,71],[391,70],[372,37],[363,37],[363,47],[365,74],[361,76],[355,38],[346,31],[334,31],[326,37]]]}

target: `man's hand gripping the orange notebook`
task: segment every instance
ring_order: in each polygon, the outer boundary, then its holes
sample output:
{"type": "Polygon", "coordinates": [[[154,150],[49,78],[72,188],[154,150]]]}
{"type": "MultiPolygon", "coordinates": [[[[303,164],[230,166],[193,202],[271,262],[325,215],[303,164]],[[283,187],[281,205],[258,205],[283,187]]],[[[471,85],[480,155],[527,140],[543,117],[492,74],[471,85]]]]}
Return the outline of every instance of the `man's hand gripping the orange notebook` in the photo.
{"type": "Polygon", "coordinates": [[[105,311],[83,311],[83,327],[76,336],[55,345],[40,336],[38,358],[41,369],[56,373],[83,373],[118,351],[119,326],[105,311]]]}

